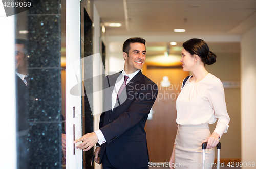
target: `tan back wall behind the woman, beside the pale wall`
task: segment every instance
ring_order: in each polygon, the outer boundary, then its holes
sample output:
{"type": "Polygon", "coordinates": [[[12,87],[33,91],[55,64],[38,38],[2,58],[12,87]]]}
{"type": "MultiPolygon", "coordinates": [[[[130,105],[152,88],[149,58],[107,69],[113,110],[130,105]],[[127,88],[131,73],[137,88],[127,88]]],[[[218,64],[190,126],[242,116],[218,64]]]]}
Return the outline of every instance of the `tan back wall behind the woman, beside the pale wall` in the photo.
{"type": "MultiPolygon", "coordinates": [[[[211,49],[211,47],[210,47],[211,49]]],[[[221,81],[240,81],[241,67],[240,53],[216,53],[216,63],[207,65],[206,70],[218,77],[221,81]]],[[[227,112],[230,117],[227,133],[221,137],[221,158],[240,159],[241,158],[241,89],[224,88],[227,112]]],[[[216,123],[209,125],[211,132],[214,131],[216,123]]],[[[217,158],[217,149],[216,158],[217,158]]]]}

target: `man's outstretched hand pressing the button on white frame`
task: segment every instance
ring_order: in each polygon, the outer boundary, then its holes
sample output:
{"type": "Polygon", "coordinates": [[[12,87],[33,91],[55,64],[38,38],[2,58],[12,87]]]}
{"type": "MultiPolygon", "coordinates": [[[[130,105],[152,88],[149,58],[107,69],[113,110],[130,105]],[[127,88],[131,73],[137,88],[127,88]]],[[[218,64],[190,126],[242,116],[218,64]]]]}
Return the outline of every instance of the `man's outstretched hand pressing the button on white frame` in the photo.
{"type": "Polygon", "coordinates": [[[81,138],[75,140],[74,143],[77,143],[80,141],[83,141],[83,142],[80,143],[76,148],[83,149],[83,151],[88,151],[99,141],[99,139],[97,135],[93,132],[93,133],[87,133],[81,138]]]}

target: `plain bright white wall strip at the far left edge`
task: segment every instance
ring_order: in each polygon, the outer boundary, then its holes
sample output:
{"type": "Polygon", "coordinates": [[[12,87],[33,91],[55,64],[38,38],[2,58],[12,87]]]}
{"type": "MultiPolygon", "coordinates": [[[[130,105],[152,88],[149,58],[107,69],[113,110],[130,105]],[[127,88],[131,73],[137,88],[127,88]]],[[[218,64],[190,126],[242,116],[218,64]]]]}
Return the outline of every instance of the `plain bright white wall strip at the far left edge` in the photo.
{"type": "Polygon", "coordinates": [[[0,3],[0,168],[15,169],[16,152],[16,91],[15,91],[15,47],[14,16],[6,17],[0,3]]]}

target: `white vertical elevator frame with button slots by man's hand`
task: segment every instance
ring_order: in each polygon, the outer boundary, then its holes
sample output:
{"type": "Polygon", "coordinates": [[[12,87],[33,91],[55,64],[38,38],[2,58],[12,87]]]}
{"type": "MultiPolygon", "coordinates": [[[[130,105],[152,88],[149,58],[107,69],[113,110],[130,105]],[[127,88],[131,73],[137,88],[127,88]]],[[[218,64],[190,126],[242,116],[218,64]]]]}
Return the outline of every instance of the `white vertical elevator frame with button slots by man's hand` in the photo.
{"type": "MultiPolygon", "coordinates": [[[[81,81],[81,37],[80,1],[66,0],[66,168],[82,168],[82,151],[75,148],[73,155],[73,124],[75,140],[82,136],[81,131],[81,86],[76,88],[80,96],[70,94],[70,90],[81,81]],[[73,118],[75,107],[75,118],[73,118]]],[[[77,143],[80,144],[81,142],[77,143]]]]}

